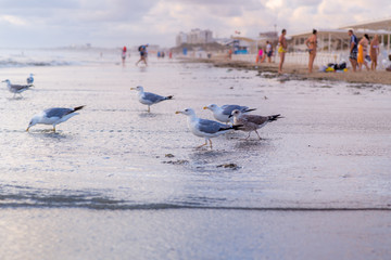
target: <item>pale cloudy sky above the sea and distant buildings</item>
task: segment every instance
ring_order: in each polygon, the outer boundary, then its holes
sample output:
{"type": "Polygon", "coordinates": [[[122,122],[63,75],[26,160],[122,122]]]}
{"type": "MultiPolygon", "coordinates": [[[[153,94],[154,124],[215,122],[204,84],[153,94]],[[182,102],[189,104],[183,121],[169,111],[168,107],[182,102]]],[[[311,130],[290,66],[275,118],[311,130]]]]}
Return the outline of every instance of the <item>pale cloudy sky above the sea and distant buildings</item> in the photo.
{"type": "Polygon", "coordinates": [[[0,47],[174,47],[192,28],[256,37],[390,17],[390,0],[0,0],[0,47]]]}

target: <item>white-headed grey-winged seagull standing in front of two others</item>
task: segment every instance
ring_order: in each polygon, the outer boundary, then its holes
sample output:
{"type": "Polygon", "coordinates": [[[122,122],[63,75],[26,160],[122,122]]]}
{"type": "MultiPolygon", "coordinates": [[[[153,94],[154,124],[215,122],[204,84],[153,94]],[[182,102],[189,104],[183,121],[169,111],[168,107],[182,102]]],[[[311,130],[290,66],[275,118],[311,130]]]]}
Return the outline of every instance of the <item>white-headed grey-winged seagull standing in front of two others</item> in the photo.
{"type": "Polygon", "coordinates": [[[205,139],[205,143],[198,146],[197,148],[200,148],[204,145],[207,145],[207,141],[211,144],[212,148],[212,141],[211,138],[216,138],[218,135],[222,135],[226,132],[229,132],[231,130],[238,130],[241,126],[226,126],[218,121],[207,120],[198,118],[195,116],[195,112],[192,108],[186,108],[185,110],[178,110],[175,114],[184,114],[188,116],[187,122],[190,131],[200,138],[205,139]]]}

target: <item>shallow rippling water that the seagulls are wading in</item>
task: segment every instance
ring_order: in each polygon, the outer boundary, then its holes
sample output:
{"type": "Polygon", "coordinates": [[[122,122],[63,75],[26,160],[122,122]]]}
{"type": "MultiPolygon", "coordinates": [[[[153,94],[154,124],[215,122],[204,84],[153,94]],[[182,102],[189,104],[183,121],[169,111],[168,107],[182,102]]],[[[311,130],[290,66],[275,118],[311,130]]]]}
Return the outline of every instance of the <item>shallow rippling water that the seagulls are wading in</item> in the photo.
{"type": "MultiPolygon", "coordinates": [[[[358,238],[338,247],[336,257],[390,253],[378,244],[391,231],[389,86],[286,80],[154,58],[138,68],[134,62],[123,67],[104,56],[72,66],[1,69],[0,77],[15,83],[36,75],[36,87],[23,98],[12,99],[5,86],[0,90],[0,229],[8,246],[0,250],[2,259],[18,253],[20,259],[97,259],[98,251],[101,259],[294,259],[297,247],[317,248],[317,236],[332,248],[339,229],[349,239],[358,238]],[[139,84],[174,100],[147,113],[130,91],[139,84]],[[254,133],[243,141],[247,133],[235,132],[213,139],[213,150],[198,150],[204,141],[175,110],[192,107],[212,119],[202,109],[211,103],[248,105],[257,108],[254,114],[285,118],[260,130],[261,141],[254,133]],[[80,115],[59,125],[56,133],[42,125],[25,131],[45,108],[79,105],[86,105],[80,115]],[[224,167],[230,164],[234,168],[224,167]],[[339,211],[345,209],[358,211],[339,211]],[[301,218],[310,233],[298,234],[294,223],[301,218]],[[346,225],[345,218],[354,221],[346,225]],[[367,219],[367,227],[355,230],[353,223],[367,219]],[[232,227],[237,223],[240,229],[232,227]],[[45,235],[54,244],[48,246],[45,235]],[[294,235],[306,237],[305,244],[294,235]],[[369,238],[360,238],[364,235],[369,238]],[[254,239],[266,244],[260,247],[254,239]],[[279,251],[270,242],[287,247],[279,251]]],[[[317,253],[301,252],[301,259],[317,253]]]]}

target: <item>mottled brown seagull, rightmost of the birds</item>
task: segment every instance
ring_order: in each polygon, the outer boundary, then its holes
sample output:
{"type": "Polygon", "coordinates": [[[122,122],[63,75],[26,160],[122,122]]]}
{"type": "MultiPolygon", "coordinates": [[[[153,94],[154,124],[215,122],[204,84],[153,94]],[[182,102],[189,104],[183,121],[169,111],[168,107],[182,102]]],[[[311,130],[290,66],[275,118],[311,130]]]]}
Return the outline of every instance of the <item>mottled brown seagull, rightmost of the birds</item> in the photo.
{"type": "Polygon", "coordinates": [[[230,117],[234,117],[234,126],[239,125],[241,126],[239,130],[244,132],[249,132],[250,138],[251,131],[255,131],[256,135],[258,135],[260,140],[261,136],[257,133],[256,129],[263,128],[270,121],[275,121],[280,117],[280,114],[273,115],[273,116],[256,116],[256,115],[243,115],[241,110],[235,109],[230,117]]]}

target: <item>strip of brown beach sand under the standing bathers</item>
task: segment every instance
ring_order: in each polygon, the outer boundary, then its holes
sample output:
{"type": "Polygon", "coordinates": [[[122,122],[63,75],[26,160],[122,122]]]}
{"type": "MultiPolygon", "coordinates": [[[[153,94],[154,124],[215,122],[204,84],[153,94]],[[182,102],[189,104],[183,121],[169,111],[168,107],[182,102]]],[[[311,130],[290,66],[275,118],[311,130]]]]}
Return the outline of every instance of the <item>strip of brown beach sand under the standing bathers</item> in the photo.
{"type": "MultiPolygon", "coordinates": [[[[236,69],[257,70],[260,73],[273,73],[275,77],[279,77],[278,63],[261,63],[255,64],[251,62],[232,61],[224,57],[212,58],[184,58],[182,62],[190,63],[211,63],[216,67],[229,67],[236,69]]],[[[379,83],[391,86],[391,73],[386,70],[362,72],[353,73],[351,70],[346,73],[319,73],[318,68],[314,68],[315,73],[308,74],[307,67],[303,65],[285,64],[283,74],[292,77],[292,79],[312,79],[312,80],[338,80],[351,83],[379,83]]]]}

